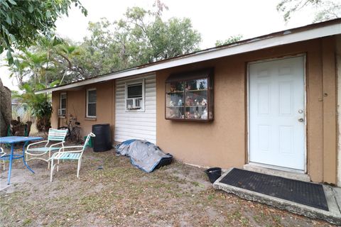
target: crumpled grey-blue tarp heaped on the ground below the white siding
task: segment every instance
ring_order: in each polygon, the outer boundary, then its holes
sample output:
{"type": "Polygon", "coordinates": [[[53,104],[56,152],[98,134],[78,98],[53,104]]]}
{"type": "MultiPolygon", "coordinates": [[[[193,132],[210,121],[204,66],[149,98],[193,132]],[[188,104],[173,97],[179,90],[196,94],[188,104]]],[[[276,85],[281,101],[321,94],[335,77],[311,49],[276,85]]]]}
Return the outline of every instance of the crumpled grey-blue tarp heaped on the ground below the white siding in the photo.
{"type": "Polygon", "coordinates": [[[116,152],[130,157],[131,164],[144,172],[153,172],[161,160],[173,158],[173,155],[163,153],[158,146],[146,140],[126,140],[117,145],[116,152]]]}

